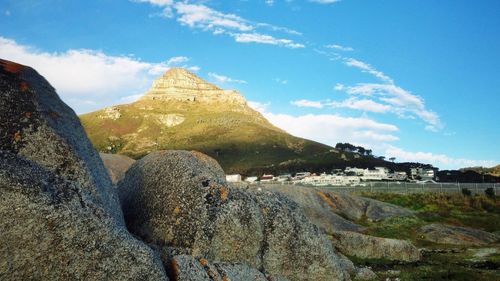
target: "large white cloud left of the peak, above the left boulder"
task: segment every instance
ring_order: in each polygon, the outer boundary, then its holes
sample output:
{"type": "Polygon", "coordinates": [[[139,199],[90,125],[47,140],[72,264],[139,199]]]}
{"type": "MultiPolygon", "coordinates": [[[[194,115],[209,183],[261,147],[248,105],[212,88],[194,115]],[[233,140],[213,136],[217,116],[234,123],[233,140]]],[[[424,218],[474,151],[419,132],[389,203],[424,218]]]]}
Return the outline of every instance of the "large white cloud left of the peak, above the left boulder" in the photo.
{"type": "Polygon", "coordinates": [[[4,37],[0,37],[0,57],[36,69],[79,113],[144,92],[156,76],[172,65],[188,60],[174,57],[165,62],[151,63],[86,49],[49,53],[4,37]]]}

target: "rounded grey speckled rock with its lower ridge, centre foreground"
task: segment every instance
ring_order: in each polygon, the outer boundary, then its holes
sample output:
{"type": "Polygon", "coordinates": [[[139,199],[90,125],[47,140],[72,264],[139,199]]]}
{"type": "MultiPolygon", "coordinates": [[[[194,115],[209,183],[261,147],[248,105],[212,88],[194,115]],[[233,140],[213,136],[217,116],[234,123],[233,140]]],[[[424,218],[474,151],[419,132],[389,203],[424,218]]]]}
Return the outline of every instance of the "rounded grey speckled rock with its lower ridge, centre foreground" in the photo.
{"type": "Polygon", "coordinates": [[[153,152],[127,171],[119,193],[129,229],[147,242],[290,280],[348,278],[295,203],[230,188],[217,162],[201,153],[153,152]]]}

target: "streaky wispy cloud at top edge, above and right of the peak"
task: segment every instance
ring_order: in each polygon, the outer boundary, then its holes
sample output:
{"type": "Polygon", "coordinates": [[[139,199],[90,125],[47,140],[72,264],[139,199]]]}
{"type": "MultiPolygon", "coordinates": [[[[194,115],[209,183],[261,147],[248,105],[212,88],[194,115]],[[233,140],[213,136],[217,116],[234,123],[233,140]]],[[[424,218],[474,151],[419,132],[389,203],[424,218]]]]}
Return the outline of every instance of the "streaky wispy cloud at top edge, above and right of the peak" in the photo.
{"type": "Polygon", "coordinates": [[[161,7],[167,18],[176,17],[181,24],[193,29],[212,32],[214,35],[228,35],[239,43],[260,43],[287,48],[304,48],[305,45],[289,38],[280,38],[264,33],[261,29],[301,35],[300,32],[268,23],[253,22],[236,14],[217,11],[203,4],[191,4],[167,0],[134,0],[161,7]]]}

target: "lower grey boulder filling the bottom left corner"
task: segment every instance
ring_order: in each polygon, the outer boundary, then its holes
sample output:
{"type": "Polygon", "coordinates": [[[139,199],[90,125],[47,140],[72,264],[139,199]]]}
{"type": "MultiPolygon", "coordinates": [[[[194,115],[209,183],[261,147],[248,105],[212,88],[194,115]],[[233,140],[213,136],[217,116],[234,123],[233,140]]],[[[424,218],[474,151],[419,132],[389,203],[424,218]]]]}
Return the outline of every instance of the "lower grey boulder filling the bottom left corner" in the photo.
{"type": "Polygon", "coordinates": [[[93,194],[0,151],[0,276],[5,280],[168,280],[160,259],[93,194]]]}

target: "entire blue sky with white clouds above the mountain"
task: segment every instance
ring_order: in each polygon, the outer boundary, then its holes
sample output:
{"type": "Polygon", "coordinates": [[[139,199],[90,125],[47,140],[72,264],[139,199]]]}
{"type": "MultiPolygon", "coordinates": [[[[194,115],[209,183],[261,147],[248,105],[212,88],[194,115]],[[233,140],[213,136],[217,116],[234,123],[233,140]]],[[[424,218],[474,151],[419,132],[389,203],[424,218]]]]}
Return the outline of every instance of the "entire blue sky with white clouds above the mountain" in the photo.
{"type": "Polygon", "coordinates": [[[0,58],[77,113],[185,67],[296,136],[440,169],[500,164],[497,0],[0,0],[0,58]]]}

